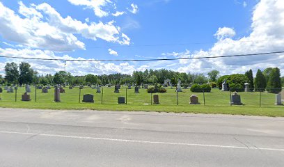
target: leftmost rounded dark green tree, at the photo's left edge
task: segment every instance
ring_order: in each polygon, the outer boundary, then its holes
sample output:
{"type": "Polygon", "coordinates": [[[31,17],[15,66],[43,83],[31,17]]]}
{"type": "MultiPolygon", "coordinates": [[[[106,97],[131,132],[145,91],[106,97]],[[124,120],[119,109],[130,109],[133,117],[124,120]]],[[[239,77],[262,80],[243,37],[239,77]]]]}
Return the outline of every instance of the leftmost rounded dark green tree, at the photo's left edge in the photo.
{"type": "Polygon", "coordinates": [[[19,79],[18,65],[14,62],[5,65],[5,80],[9,84],[17,84],[19,79]]]}

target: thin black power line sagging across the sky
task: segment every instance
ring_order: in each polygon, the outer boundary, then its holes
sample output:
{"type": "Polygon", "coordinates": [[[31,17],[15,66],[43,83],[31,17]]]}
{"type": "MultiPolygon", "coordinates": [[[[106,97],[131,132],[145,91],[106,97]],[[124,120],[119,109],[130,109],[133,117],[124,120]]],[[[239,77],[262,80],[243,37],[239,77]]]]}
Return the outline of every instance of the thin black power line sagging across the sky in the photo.
{"type": "Polygon", "coordinates": [[[17,58],[17,59],[29,59],[29,60],[42,60],[42,61],[101,61],[101,62],[125,62],[125,61],[177,61],[177,60],[191,60],[191,59],[206,59],[206,58],[229,58],[229,57],[239,57],[239,56],[261,56],[267,54],[284,54],[284,51],[273,51],[258,54],[235,54],[227,56],[206,56],[206,57],[193,57],[193,58],[153,58],[153,59],[124,59],[124,60],[94,60],[94,59],[63,59],[63,58],[29,58],[29,57],[19,57],[19,56],[3,56],[0,58],[17,58]]]}

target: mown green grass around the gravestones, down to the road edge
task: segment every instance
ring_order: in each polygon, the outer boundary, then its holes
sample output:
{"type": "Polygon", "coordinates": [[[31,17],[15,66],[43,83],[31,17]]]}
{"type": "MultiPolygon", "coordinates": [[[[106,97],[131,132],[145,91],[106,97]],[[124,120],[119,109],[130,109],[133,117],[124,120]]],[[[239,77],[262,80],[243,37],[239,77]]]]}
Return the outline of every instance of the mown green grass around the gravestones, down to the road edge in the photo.
{"type": "MultiPolygon", "coordinates": [[[[83,95],[90,93],[94,95],[95,103],[79,103],[79,88],[72,90],[65,88],[66,93],[61,94],[61,102],[53,102],[54,88],[49,93],[41,93],[35,88],[32,92],[30,102],[22,102],[24,88],[17,90],[17,102],[15,102],[15,92],[1,94],[1,107],[28,108],[28,109],[95,109],[107,111],[160,111],[175,113],[223,113],[253,116],[284,116],[284,106],[275,106],[275,95],[271,93],[239,93],[243,106],[230,106],[230,93],[212,89],[212,93],[191,93],[189,89],[184,89],[182,93],[175,93],[175,89],[167,88],[167,93],[157,93],[159,95],[159,105],[151,105],[151,94],[145,89],[140,89],[140,93],[134,93],[134,88],[127,90],[121,87],[120,93],[113,93],[114,88],[102,88],[104,93],[95,93],[95,89],[84,88],[81,90],[81,100],[83,95]],[[127,105],[117,104],[117,98],[126,96],[127,105]],[[189,97],[198,95],[200,105],[190,105],[189,97]],[[261,97],[261,98],[260,98],[261,97]],[[36,101],[35,101],[36,99],[36,101]],[[205,99],[205,104],[204,104],[205,99]],[[179,105],[178,105],[179,102],[179,105]],[[261,104],[261,107],[260,107],[261,104]]],[[[154,95],[154,94],[153,94],[154,95]]],[[[81,101],[80,100],[80,101],[81,101]]]]}

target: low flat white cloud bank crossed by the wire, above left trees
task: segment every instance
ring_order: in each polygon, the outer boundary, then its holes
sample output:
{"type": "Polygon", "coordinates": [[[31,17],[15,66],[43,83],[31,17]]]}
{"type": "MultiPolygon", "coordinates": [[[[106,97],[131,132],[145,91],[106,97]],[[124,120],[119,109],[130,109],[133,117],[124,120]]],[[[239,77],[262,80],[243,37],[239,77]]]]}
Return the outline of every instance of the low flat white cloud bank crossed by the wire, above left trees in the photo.
{"type": "MultiPolygon", "coordinates": [[[[53,51],[31,50],[31,49],[1,49],[0,54],[3,56],[21,56],[29,58],[64,58],[72,60],[84,60],[84,58],[73,58],[71,56],[56,56],[53,51]]],[[[95,60],[95,59],[93,59],[95,60]]],[[[64,70],[65,64],[62,61],[42,61],[42,60],[22,60],[22,59],[10,59],[6,58],[6,62],[14,61],[20,63],[26,61],[30,63],[31,67],[38,71],[40,74],[54,74],[60,70],[64,70]]],[[[5,63],[6,63],[5,62],[5,63]]],[[[4,73],[3,68],[5,63],[0,63],[0,73],[4,73]]],[[[129,63],[102,63],[100,61],[68,61],[66,71],[73,75],[85,75],[85,74],[113,74],[124,73],[132,74],[135,70],[134,65],[129,63]]]]}

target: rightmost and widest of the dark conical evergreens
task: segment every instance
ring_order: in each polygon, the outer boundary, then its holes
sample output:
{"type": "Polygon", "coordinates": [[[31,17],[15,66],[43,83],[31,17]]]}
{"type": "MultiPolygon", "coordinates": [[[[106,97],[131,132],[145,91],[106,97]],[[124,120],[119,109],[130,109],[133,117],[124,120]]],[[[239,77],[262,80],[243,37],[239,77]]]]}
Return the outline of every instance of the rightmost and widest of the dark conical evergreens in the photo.
{"type": "Polygon", "coordinates": [[[269,74],[267,82],[267,91],[269,93],[280,93],[282,90],[280,70],[278,67],[273,68],[269,74]]]}

